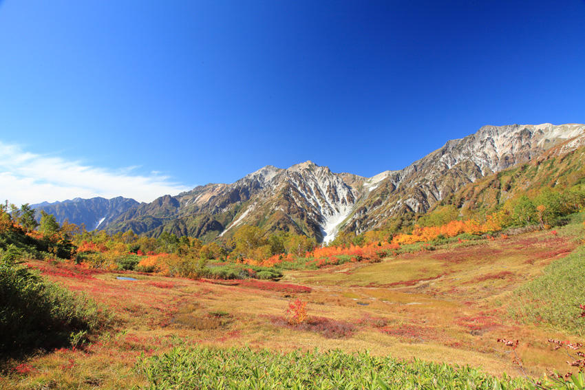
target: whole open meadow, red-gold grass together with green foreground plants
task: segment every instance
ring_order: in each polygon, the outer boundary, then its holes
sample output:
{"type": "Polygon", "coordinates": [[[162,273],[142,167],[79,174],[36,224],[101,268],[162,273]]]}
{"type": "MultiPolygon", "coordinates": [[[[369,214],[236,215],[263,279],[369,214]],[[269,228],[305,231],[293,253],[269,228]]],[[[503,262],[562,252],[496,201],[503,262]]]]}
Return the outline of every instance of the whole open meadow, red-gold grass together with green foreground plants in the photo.
{"type": "Polygon", "coordinates": [[[113,319],[73,347],[5,360],[0,388],[333,389],[349,373],[348,389],[443,388],[442,380],[462,389],[533,387],[533,378],[571,371],[549,339],[584,341],[577,303],[585,293],[575,288],[585,285],[582,239],[576,220],[554,231],[405,246],[376,263],[288,270],[280,281],[31,260],[28,268],[83,292],[113,319]],[[295,299],[308,317],[291,325],[295,299]]]}

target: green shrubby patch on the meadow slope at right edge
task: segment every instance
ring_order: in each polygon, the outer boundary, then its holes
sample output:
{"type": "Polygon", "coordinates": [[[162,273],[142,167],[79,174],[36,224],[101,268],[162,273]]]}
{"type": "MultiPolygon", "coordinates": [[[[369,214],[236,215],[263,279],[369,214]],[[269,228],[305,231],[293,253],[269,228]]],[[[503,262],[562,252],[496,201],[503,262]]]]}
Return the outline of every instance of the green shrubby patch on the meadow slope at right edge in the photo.
{"type": "Polygon", "coordinates": [[[559,259],[544,275],[522,285],[515,294],[511,314],[523,322],[544,324],[570,334],[585,334],[585,246],[559,259]]]}

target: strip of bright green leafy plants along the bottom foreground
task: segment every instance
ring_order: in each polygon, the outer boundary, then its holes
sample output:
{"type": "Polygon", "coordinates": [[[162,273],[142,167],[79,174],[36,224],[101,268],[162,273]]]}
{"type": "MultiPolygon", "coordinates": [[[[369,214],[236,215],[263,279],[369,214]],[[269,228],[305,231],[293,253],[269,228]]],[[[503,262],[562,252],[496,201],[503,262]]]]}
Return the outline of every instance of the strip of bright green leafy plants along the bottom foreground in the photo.
{"type": "Polygon", "coordinates": [[[530,382],[489,376],[470,367],[363,352],[304,353],[249,348],[175,348],[140,358],[146,389],[530,389],[530,382]]]}

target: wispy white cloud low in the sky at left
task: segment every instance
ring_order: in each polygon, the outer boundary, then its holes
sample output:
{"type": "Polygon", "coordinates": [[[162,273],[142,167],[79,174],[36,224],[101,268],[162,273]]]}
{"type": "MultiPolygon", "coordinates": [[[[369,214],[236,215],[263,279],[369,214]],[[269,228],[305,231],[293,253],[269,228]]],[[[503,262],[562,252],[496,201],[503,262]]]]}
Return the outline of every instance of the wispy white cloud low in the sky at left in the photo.
{"type": "Polygon", "coordinates": [[[88,166],[0,142],[0,200],[23,204],[74,197],[123,196],[151,202],[162,195],[189,189],[158,171],[145,176],[133,174],[135,170],[136,166],[118,170],[88,166]]]}

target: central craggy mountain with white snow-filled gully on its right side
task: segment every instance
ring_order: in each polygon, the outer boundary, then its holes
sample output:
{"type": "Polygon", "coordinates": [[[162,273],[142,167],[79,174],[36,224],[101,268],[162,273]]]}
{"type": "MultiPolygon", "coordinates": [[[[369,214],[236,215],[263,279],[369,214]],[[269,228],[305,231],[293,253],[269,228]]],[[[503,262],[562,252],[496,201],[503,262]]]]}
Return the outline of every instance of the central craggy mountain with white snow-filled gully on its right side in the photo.
{"type": "MultiPolygon", "coordinates": [[[[364,181],[356,175],[353,180],[356,185],[364,181]]],[[[107,229],[213,239],[230,237],[237,226],[253,224],[321,240],[334,237],[339,222],[352,211],[357,192],[327,167],[310,161],[289,169],[265,166],[233,184],[207,184],[142,204],[107,229]]]]}

